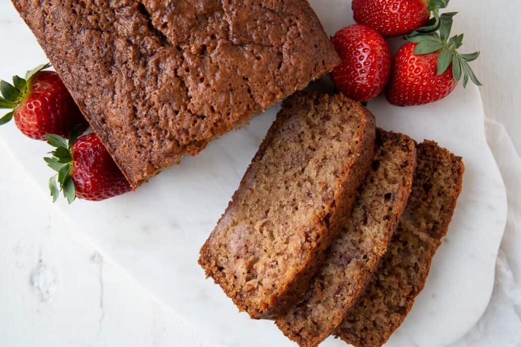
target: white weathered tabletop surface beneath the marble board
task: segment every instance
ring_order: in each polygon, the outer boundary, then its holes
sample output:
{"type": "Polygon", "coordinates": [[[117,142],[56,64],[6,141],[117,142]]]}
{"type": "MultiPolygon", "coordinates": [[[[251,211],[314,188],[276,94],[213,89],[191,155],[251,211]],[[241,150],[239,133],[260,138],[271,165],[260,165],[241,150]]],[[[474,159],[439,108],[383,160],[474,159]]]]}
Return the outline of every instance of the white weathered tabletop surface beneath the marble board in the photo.
{"type": "MultiPolygon", "coordinates": [[[[486,7],[487,3],[453,0],[451,10],[461,12],[456,17],[454,32],[466,33],[465,51],[481,49],[482,57],[474,66],[485,83],[481,92],[487,115],[507,125],[520,149],[517,131],[521,130],[521,103],[515,96],[521,92],[517,86],[521,68],[516,62],[521,49],[514,40],[521,34],[516,23],[521,3],[497,1],[493,8],[486,7]]],[[[11,6],[7,0],[0,0],[0,36],[9,35],[1,31],[2,21],[9,20],[2,16],[7,6],[11,6]]],[[[351,22],[351,18],[346,18],[346,24],[351,22]]],[[[3,48],[3,54],[10,53],[8,47],[3,48]]],[[[11,54],[16,59],[16,53],[11,54]]],[[[501,127],[498,129],[492,135],[502,141],[501,127]]],[[[505,167],[513,158],[505,159],[505,167]]],[[[135,285],[121,269],[96,256],[92,246],[73,239],[77,233],[64,224],[47,199],[33,194],[36,187],[21,168],[3,159],[0,163],[0,346],[213,345],[212,341],[201,341],[196,331],[184,327],[178,317],[135,285]]],[[[513,206],[515,197],[511,196],[513,206]]],[[[516,230],[515,222],[511,220],[511,232],[516,230]]],[[[511,233],[507,237],[506,256],[501,261],[510,264],[514,276],[516,271],[519,274],[521,264],[513,252],[519,236],[516,238],[511,233]]],[[[508,278],[508,272],[500,274],[501,281],[510,286],[515,284],[515,278],[508,278]]],[[[516,313],[511,304],[518,299],[516,287],[498,288],[493,302],[500,305],[489,310],[492,315],[487,313],[494,319],[482,323],[479,329],[486,331],[486,339],[502,341],[501,345],[521,345],[521,340],[498,340],[499,335],[504,335],[502,329],[519,322],[519,307],[516,313]]],[[[485,343],[479,329],[469,333],[461,345],[485,343]]]]}

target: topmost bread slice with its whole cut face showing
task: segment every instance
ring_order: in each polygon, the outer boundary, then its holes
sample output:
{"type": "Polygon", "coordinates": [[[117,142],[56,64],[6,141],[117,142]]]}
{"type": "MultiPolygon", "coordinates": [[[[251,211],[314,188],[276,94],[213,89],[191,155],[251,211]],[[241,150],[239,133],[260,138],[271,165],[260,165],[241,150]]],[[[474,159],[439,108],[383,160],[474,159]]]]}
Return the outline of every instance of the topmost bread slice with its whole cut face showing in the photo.
{"type": "Polygon", "coordinates": [[[308,289],[374,157],[375,119],[342,95],[295,93],[199,263],[241,311],[272,318],[308,289]]]}

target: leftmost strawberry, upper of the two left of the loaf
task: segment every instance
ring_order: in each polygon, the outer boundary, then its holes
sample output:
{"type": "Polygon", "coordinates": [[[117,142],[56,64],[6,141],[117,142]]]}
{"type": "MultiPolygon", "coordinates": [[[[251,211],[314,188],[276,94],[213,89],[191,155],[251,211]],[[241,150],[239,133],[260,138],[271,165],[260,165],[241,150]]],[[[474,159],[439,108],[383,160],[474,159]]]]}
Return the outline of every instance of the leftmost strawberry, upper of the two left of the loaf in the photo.
{"type": "Polygon", "coordinates": [[[78,124],[86,130],[89,124],[58,74],[42,71],[49,66],[28,71],[25,79],[14,76],[13,85],[0,82],[0,108],[13,109],[0,119],[0,125],[14,117],[19,130],[37,140],[45,140],[45,134],[67,136],[78,124]]]}

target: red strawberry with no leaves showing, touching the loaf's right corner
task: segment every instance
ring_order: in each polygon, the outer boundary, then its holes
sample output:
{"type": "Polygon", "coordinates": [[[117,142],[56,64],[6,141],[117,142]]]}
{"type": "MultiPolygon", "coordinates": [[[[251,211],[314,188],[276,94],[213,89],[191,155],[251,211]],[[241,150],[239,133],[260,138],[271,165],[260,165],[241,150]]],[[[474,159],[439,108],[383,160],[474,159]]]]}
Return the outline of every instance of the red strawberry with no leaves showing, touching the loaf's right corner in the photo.
{"type": "Polygon", "coordinates": [[[337,89],[356,101],[380,94],[391,70],[389,45],[374,29],[354,24],[333,36],[342,63],[332,73],[337,89]]]}

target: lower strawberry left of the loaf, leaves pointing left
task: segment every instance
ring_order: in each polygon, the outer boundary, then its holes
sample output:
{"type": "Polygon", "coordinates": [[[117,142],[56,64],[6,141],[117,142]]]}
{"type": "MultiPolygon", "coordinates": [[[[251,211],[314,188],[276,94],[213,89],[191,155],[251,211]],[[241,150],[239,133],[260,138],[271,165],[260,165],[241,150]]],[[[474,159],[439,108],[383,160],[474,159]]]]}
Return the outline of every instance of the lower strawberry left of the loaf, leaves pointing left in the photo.
{"type": "Polygon", "coordinates": [[[132,190],[96,134],[78,138],[79,134],[77,127],[70,134],[69,142],[59,135],[46,135],[48,144],[56,148],[51,152],[52,158],[44,158],[58,172],[49,181],[53,202],[58,198],[59,190],[63,191],[69,203],[76,197],[100,201],[132,190]]]}

